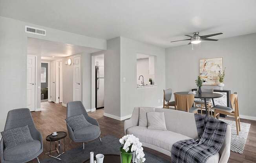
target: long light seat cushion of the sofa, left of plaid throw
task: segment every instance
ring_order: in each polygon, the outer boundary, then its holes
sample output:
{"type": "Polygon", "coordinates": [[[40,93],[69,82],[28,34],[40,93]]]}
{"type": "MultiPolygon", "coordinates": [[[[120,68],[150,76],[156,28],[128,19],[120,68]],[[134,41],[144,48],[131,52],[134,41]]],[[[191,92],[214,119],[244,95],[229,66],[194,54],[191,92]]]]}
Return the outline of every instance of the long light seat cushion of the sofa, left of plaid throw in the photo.
{"type": "Polygon", "coordinates": [[[171,151],[172,145],[181,140],[191,139],[187,136],[164,130],[150,130],[147,127],[134,126],[127,130],[128,134],[133,134],[139,141],[155,145],[162,149],[171,151]]]}

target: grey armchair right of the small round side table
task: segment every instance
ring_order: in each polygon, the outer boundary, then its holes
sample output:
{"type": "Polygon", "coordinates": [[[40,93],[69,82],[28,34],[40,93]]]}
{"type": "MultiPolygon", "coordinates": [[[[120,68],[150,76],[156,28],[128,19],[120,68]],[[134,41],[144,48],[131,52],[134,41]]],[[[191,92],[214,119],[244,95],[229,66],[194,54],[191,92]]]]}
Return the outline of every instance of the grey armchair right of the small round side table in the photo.
{"type": "Polygon", "coordinates": [[[84,149],[84,142],[92,141],[97,138],[99,138],[99,140],[101,141],[101,136],[100,136],[101,130],[100,130],[98,121],[88,116],[84,108],[84,105],[82,104],[81,101],[68,102],[67,118],[71,116],[76,116],[79,114],[83,114],[85,119],[92,125],[74,132],[67,123],[67,129],[68,129],[69,138],[75,142],[83,142],[83,149],[84,149]]]}

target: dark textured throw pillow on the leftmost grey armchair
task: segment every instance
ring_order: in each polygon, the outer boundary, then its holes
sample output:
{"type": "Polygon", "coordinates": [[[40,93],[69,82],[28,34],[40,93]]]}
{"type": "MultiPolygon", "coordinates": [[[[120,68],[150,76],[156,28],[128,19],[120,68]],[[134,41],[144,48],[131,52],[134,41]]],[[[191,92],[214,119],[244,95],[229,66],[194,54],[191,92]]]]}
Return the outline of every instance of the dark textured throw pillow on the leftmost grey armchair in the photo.
{"type": "Polygon", "coordinates": [[[23,127],[4,130],[3,132],[1,132],[1,134],[4,140],[5,150],[15,147],[17,145],[34,141],[34,139],[31,137],[27,125],[23,127]]]}

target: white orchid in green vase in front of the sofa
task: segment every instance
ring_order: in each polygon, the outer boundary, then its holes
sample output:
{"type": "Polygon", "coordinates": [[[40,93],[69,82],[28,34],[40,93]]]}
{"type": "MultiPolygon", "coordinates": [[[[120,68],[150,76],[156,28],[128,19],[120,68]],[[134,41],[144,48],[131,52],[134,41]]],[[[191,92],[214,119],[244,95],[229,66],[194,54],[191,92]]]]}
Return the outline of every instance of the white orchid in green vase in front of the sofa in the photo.
{"type": "Polygon", "coordinates": [[[123,145],[120,147],[121,163],[144,163],[146,159],[139,138],[128,134],[119,139],[119,142],[123,145]]]}

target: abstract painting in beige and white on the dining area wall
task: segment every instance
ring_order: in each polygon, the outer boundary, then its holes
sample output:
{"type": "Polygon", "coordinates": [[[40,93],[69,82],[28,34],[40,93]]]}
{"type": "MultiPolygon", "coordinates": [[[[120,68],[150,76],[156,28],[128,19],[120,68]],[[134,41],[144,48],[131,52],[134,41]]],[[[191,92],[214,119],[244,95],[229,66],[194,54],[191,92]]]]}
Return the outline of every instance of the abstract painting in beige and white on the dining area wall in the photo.
{"type": "Polygon", "coordinates": [[[208,58],[199,60],[199,74],[203,85],[217,85],[218,73],[223,70],[223,58],[208,58]]]}

